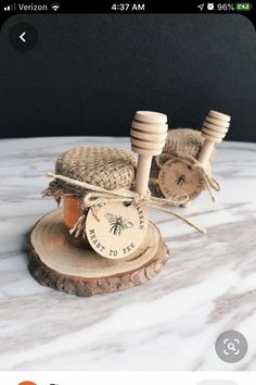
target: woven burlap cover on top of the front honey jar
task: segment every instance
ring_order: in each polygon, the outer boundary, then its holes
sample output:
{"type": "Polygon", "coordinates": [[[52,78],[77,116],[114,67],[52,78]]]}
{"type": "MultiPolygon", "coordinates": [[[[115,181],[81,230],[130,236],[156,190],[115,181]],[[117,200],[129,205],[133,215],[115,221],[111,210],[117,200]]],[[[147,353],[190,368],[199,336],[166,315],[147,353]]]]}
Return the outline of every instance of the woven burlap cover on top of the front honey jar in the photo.
{"type": "MultiPolygon", "coordinates": [[[[73,148],[57,158],[55,173],[110,190],[130,188],[135,181],[136,158],[131,151],[124,149],[73,148]]],[[[79,188],[53,181],[43,195],[79,195],[79,188]]]]}

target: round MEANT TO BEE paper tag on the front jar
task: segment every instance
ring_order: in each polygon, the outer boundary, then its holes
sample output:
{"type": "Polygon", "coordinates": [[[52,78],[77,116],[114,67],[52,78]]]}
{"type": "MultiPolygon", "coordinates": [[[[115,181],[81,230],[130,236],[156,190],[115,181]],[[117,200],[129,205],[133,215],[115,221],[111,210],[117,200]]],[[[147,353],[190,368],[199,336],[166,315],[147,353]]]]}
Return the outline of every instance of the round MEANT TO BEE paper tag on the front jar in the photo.
{"type": "Polygon", "coordinates": [[[139,204],[123,202],[99,203],[89,210],[86,220],[87,238],[102,257],[120,259],[142,244],[149,224],[148,210],[139,204]]]}

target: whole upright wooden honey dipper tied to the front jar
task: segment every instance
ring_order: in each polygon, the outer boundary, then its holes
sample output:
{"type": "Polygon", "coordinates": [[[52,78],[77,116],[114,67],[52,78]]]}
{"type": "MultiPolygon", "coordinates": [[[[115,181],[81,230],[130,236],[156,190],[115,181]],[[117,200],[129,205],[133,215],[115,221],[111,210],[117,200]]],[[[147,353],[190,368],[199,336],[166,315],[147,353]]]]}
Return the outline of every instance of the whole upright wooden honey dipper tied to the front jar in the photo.
{"type": "Polygon", "coordinates": [[[131,149],[139,154],[136,191],[145,195],[152,158],[161,154],[167,137],[167,116],[152,111],[137,111],[131,124],[131,149]]]}

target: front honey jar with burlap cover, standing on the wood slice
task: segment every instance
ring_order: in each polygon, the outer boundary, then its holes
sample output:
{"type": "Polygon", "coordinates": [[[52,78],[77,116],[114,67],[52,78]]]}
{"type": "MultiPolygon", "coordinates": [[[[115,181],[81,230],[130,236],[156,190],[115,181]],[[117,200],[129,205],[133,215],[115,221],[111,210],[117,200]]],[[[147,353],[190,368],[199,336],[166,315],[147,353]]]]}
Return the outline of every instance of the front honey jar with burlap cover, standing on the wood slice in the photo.
{"type": "Polygon", "coordinates": [[[72,244],[88,246],[84,197],[93,191],[93,186],[107,190],[130,189],[135,173],[136,159],[131,151],[123,149],[79,147],[57,158],[55,174],[91,185],[91,190],[87,190],[56,178],[43,191],[43,196],[61,199],[65,232],[72,244]]]}

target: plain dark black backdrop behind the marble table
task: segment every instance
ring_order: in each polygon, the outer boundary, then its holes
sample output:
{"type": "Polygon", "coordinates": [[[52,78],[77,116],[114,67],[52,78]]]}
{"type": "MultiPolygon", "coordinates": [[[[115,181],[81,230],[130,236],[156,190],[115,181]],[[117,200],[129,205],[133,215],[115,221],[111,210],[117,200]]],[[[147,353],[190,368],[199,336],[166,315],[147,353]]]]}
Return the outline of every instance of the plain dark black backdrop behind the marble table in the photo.
{"type": "Polygon", "coordinates": [[[201,128],[232,116],[230,140],[256,141],[256,39],[241,15],[16,15],[0,35],[0,137],[128,136],[136,110],[201,128]],[[12,25],[38,42],[16,51],[12,25]]]}

